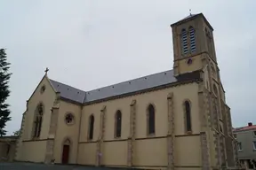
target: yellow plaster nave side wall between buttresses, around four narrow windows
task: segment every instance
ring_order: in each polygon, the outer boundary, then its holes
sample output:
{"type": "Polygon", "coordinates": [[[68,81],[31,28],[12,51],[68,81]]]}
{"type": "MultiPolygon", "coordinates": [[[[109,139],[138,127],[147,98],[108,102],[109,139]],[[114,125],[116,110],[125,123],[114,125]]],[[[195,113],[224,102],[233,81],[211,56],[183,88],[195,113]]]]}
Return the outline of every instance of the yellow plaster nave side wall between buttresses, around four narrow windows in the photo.
{"type": "MultiPolygon", "coordinates": [[[[182,85],[175,88],[161,89],[145,94],[124,97],[116,100],[110,100],[108,102],[100,104],[85,105],[82,114],[81,121],[81,132],[80,132],[80,146],[79,146],[79,158],[78,164],[94,164],[96,158],[96,149],[93,151],[85,150],[88,143],[88,122],[89,117],[93,113],[95,116],[94,120],[94,133],[92,142],[98,139],[100,135],[100,109],[103,105],[106,105],[106,130],[105,138],[107,141],[104,143],[103,150],[103,164],[104,165],[119,165],[125,166],[127,162],[127,141],[116,142],[114,137],[114,126],[115,126],[115,113],[117,110],[122,112],[122,135],[121,139],[125,140],[128,138],[130,130],[130,104],[132,100],[136,99],[136,144],[135,144],[135,159],[136,165],[157,165],[167,166],[167,139],[164,138],[167,135],[167,95],[173,92],[173,104],[175,114],[175,134],[185,135],[184,130],[184,111],[182,104],[188,99],[191,102],[191,117],[192,117],[192,130],[194,134],[200,133],[200,122],[199,122],[199,111],[198,111],[198,85],[196,83],[190,83],[188,85],[182,85]],[[147,138],[147,107],[148,104],[154,104],[156,108],[156,135],[155,137],[161,137],[161,139],[145,139],[147,138]],[[140,141],[141,139],[141,141],[140,141]],[[143,140],[142,140],[143,139],[143,140]],[[113,142],[115,141],[115,142],[113,142]],[[83,152],[84,151],[84,152],[83,152]],[[150,152],[150,153],[149,153],[150,152]],[[92,155],[92,153],[94,155],[92,155]],[[152,157],[154,154],[154,157],[152,157]],[[118,159],[117,156],[118,155],[118,159]],[[83,157],[83,158],[80,158],[83,157]],[[93,157],[93,158],[90,158],[93,157]],[[85,160],[85,158],[88,158],[85,160]]],[[[179,148],[180,165],[200,165],[198,158],[201,159],[200,152],[200,141],[195,136],[188,136],[177,139],[179,142],[175,147],[179,148]],[[190,139],[191,138],[191,139],[190,139]],[[190,143],[187,143],[187,142],[190,143]],[[198,142],[198,143],[196,143],[198,142]],[[195,154],[199,154],[198,158],[186,157],[182,158],[183,153],[186,153],[187,147],[184,145],[193,145],[193,151],[195,154]]],[[[93,147],[96,148],[93,144],[93,147]]],[[[192,150],[190,148],[190,150],[192,150]]],[[[176,160],[175,160],[176,161],[176,160]]]]}

